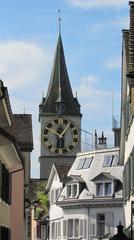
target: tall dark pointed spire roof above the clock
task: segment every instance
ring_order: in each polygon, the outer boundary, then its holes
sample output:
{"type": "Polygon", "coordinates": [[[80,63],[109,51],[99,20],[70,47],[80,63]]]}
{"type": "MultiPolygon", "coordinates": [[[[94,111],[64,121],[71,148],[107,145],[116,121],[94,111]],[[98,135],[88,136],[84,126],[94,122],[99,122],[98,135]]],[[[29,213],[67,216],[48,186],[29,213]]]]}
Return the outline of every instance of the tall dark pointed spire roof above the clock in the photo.
{"type": "Polygon", "coordinates": [[[55,58],[46,98],[40,104],[40,114],[56,113],[55,103],[61,102],[65,105],[64,114],[80,114],[80,104],[73,97],[61,35],[58,37],[55,58]]]}

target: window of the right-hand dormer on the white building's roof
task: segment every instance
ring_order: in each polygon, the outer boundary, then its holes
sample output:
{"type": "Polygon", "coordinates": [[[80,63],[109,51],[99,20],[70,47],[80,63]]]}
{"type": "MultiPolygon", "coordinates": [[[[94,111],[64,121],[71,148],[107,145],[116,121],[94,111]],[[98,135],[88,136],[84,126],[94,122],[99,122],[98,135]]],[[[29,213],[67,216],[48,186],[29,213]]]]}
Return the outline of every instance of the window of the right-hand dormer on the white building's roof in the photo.
{"type": "Polygon", "coordinates": [[[96,183],[97,196],[111,196],[112,195],[112,182],[98,182],[96,183]]]}

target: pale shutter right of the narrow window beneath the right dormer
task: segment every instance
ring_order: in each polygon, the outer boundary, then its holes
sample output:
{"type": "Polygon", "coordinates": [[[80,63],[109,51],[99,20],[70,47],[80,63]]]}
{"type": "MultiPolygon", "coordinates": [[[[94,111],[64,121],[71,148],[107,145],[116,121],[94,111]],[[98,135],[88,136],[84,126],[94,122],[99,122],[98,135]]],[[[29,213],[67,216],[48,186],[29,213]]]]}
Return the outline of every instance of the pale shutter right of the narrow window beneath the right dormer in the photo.
{"type": "Polygon", "coordinates": [[[109,236],[113,235],[114,215],[113,212],[107,212],[105,214],[105,234],[109,236]]]}

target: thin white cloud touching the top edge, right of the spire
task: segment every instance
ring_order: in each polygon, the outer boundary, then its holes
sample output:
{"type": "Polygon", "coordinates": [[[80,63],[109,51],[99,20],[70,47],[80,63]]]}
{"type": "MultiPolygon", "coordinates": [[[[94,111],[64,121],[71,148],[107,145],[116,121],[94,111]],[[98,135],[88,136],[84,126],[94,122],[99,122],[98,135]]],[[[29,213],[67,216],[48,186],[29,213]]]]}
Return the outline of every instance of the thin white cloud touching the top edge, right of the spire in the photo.
{"type": "Polygon", "coordinates": [[[121,7],[127,4],[126,0],[67,0],[72,6],[89,10],[100,7],[121,7]]]}

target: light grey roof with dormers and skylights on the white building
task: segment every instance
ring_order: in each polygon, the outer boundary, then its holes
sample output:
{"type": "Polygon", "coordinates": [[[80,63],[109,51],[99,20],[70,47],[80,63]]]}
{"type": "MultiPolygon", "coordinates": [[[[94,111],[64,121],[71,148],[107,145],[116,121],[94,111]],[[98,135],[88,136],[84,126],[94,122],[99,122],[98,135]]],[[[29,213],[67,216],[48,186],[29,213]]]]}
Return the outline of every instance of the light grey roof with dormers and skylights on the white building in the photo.
{"type": "MultiPolygon", "coordinates": [[[[68,181],[77,181],[85,183],[85,187],[81,191],[79,197],[77,197],[77,201],[96,201],[96,184],[94,180],[106,179],[107,181],[111,179],[112,181],[117,180],[117,184],[114,187],[114,193],[110,196],[100,196],[100,202],[104,200],[104,198],[108,198],[108,201],[116,202],[119,199],[119,202],[122,201],[122,172],[123,166],[116,162],[116,157],[119,156],[119,148],[111,148],[111,149],[101,149],[101,150],[93,150],[85,153],[78,153],[77,157],[68,173],[65,184],[68,181]],[[105,156],[113,156],[113,161],[110,165],[104,165],[105,156]],[[92,158],[91,164],[87,168],[77,168],[81,159],[92,158]],[[114,197],[113,197],[114,196],[114,197]]],[[[61,193],[61,197],[59,198],[59,202],[69,202],[70,198],[64,198],[66,194],[66,189],[63,188],[61,193]]],[[[97,199],[99,197],[97,196],[97,199]]],[[[72,201],[75,201],[74,199],[72,201]]]]}

